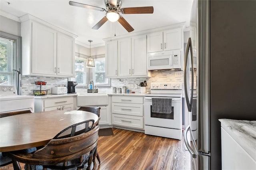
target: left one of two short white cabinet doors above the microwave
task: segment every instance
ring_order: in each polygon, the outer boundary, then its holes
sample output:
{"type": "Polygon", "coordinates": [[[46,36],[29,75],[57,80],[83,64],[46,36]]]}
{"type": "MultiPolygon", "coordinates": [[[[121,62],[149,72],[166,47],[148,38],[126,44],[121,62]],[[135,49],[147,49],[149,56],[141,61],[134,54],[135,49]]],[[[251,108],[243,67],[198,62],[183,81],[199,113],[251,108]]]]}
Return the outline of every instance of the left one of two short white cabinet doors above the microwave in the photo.
{"type": "Polygon", "coordinates": [[[163,32],[154,32],[147,35],[148,53],[163,51],[163,32]]]}

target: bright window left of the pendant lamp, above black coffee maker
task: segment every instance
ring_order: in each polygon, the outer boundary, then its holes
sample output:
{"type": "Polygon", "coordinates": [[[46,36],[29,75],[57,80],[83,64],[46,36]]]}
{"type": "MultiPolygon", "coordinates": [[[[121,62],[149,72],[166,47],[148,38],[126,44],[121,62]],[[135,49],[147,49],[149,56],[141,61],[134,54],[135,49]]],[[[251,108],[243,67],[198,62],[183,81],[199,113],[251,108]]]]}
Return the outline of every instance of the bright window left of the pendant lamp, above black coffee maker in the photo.
{"type": "Polygon", "coordinates": [[[75,59],[75,80],[78,86],[86,85],[86,59],[82,57],[76,57],[75,59]]]}

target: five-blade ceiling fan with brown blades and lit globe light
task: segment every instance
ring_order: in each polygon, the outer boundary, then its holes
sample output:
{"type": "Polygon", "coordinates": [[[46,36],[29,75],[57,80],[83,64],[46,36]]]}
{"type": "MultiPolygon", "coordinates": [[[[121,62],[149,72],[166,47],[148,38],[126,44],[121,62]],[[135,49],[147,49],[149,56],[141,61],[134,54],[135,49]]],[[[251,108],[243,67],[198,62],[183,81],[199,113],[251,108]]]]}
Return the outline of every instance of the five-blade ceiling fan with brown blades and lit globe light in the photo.
{"type": "Polygon", "coordinates": [[[94,30],[98,30],[107,20],[110,20],[111,22],[118,21],[128,32],[132,32],[134,30],[132,26],[130,26],[130,24],[124,19],[124,17],[120,16],[119,13],[153,14],[154,12],[153,6],[121,8],[121,5],[122,5],[121,0],[104,0],[104,1],[106,5],[106,10],[104,8],[100,8],[97,6],[81,4],[73,1],[70,1],[69,4],[72,6],[78,6],[82,8],[91,9],[91,10],[106,12],[106,16],[104,16],[95,26],[92,27],[92,29],[94,30]]]}

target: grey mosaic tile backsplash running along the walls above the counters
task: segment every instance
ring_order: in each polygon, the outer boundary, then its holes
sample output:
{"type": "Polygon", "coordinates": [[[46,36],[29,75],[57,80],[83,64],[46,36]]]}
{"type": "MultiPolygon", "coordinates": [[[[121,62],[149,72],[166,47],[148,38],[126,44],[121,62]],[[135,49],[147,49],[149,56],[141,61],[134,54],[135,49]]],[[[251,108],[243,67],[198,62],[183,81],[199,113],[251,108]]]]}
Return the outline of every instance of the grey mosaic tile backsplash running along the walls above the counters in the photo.
{"type": "MultiPolygon", "coordinates": [[[[140,93],[140,87],[136,84],[146,80],[146,92],[150,92],[151,82],[183,82],[183,71],[160,71],[152,72],[151,77],[125,77],[112,78],[112,87],[126,86],[130,91],[140,93]]],[[[42,90],[48,89],[48,94],[52,93],[52,87],[67,86],[68,79],[62,77],[46,77],[46,76],[27,76],[22,75],[22,93],[23,95],[33,95],[33,90],[40,90],[40,86],[35,85],[35,81],[46,81],[47,84],[42,86],[42,90]]],[[[87,88],[76,88],[77,93],[87,92],[87,88]]],[[[99,93],[111,93],[111,88],[100,88],[99,93]]]]}

